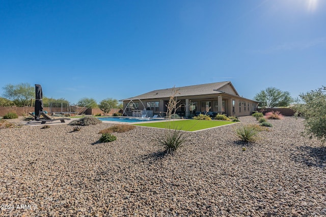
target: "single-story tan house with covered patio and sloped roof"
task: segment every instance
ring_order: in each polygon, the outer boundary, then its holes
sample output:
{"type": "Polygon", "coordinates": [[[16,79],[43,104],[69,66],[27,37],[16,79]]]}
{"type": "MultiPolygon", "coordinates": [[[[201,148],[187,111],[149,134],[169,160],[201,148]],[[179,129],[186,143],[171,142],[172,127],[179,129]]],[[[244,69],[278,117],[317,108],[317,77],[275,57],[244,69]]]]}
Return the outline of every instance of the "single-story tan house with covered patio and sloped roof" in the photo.
{"type": "Polygon", "coordinates": [[[176,113],[188,117],[198,113],[220,113],[228,116],[251,115],[258,102],[241,97],[230,81],[158,89],[120,100],[124,115],[166,116],[167,104],[173,92],[180,107],[176,113]]]}

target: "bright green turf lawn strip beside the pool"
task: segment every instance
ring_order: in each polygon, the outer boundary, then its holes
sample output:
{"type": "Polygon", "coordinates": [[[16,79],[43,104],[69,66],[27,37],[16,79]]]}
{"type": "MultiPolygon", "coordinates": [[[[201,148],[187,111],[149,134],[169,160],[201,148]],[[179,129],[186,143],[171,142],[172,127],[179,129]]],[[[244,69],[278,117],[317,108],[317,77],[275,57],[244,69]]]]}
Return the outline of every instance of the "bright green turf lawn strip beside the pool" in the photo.
{"type": "Polygon", "coordinates": [[[145,126],[152,128],[169,128],[178,129],[183,131],[198,131],[208,128],[219,127],[223,125],[229,125],[230,123],[235,123],[233,121],[224,120],[176,120],[176,121],[164,121],[164,122],[154,122],[154,123],[137,123],[137,126],[145,126]]]}

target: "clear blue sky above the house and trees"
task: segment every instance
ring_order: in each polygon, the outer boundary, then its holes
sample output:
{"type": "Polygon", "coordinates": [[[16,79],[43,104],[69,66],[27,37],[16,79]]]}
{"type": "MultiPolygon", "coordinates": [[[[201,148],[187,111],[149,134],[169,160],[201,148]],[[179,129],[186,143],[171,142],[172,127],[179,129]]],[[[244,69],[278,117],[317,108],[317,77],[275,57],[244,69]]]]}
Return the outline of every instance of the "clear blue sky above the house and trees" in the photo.
{"type": "Polygon", "coordinates": [[[231,81],[293,98],[326,85],[326,1],[0,1],[0,96],[77,103],[231,81]]]}

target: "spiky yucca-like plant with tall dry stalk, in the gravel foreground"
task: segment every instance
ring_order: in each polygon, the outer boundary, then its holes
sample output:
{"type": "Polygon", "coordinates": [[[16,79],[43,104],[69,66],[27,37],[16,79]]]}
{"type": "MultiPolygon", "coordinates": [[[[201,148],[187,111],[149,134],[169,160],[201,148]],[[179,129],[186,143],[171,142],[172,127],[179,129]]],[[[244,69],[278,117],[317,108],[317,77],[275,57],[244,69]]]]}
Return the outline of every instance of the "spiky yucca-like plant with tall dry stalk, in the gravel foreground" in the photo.
{"type": "Polygon", "coordinates": [[[180,130],[171,130],[159,143],[165,148],[167,153],[173,154],[186,141],[184,134],[180,130]]]}

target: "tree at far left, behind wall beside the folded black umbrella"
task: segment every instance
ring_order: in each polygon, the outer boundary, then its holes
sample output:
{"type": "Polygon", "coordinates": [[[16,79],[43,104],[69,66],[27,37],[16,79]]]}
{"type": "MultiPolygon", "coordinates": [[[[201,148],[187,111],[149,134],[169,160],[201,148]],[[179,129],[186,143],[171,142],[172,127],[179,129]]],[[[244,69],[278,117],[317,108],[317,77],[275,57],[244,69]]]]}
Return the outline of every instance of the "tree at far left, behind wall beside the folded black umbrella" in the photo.
{"type": "Polygon", "coordinates": [[[7,84],[3,89],[3,96],[13,101],[16,106],[27,106],[30,100],[35,98],[35,87],[29,83],[7,84]]]}

